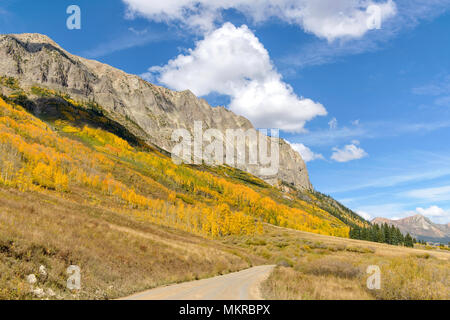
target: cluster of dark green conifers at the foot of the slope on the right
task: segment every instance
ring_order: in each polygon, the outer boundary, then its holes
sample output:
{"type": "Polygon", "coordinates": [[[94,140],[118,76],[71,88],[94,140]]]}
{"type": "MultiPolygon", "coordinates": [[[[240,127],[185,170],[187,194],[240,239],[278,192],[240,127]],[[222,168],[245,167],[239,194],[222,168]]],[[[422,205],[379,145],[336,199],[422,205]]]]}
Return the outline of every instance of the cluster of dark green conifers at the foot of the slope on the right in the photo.
{"type": "Polygon", "coordinates": [[[417,242],[409,233],[404,236],[400,229],[395,226],[389,226],[387,223],[382,225],[374,224],[367,228],[355,226],[350,229],[349,235],[351,239],[387,243],[397,246],[403,245],[411,248],[417,242]]]}

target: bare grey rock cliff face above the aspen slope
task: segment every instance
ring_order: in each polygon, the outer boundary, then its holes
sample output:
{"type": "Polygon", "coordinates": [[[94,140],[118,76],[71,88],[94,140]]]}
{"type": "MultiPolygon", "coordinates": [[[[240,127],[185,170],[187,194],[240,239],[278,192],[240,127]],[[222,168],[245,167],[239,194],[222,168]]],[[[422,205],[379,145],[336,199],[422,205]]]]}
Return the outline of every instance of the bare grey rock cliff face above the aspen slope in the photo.
{"type": "MultiPolygon", "coordinates": [[[[0,75],[19,79],[25,88],[38,85],[68,93],[76,100],[94,100],[133,134],[167,151],[174,145],[173,130],[193,132],[194,121],[201,121],[204,129],[222,132],[253,128],[246,118],[223,107],[213,108],[190,91],[172,91],[72,55],[40,34],[0,36],[0,75]]],[[[241,169],[258,175],[251,166],[241,169]]],[[[312,188],[303,159],[283,140],[278,173],[260,177],[271,184],[284,181],[300,189],[312,188]]]]}

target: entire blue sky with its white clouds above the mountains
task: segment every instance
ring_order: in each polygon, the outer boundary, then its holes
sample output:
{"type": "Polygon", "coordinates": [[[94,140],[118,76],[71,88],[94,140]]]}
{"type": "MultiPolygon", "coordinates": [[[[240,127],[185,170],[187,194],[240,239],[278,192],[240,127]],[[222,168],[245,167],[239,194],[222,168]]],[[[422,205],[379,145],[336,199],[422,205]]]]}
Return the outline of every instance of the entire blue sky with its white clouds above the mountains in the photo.
{"type": "Polygon", "coordinates": [[[362,215],[450,222],[450,0],[2,0],[0,32],[281,128],[315,188],[362,215]]]}

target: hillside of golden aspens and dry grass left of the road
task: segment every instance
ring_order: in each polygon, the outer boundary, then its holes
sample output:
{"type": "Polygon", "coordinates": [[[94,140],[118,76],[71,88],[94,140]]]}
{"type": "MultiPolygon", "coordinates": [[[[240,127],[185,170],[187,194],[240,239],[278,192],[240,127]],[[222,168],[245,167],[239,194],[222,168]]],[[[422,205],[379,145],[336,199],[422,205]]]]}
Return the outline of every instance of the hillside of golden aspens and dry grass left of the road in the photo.
{"type": "Polygon", "coordinates": [[[239,270],[264,259],[208,241],[264,235],[266,223],[348,236],[341,220],[294,191],[230,167],[177,166],[98,110],[37,87],[25,92],[12,78],[2,84],[18,91],[0,98],[3,298],[32,297],[25,276],[40,265],[51,266],[49,284],[61,291],[64,266],[82,264],[94,280],[85,298],[239,270]],[[53,110],[42,120],[14,102],[34,106],[27,95],[37,94],[53,110]],[[107,289],[111,281],[117,288],[107,289]]]}

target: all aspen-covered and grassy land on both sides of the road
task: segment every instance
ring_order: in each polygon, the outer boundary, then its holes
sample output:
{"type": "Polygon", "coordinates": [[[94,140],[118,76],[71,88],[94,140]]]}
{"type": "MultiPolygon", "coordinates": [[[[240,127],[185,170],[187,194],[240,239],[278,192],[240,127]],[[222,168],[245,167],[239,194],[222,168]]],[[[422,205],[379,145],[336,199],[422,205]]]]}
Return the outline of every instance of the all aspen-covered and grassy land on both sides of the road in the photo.
{"type": "Polygon", "coordinates": [[[1,83],[14,91],[0,99],[1,299],[111,299],[261,264],[279,265],[270,299],[449,297],[447,252],[347,239],[346,223],[367,222],[325,195],[177,166],[98,105],[1,83]],[[369,292],[374,263],[390,278],[369,292]],[[80,290],[66,288],[69,265],[80,290]]]}

